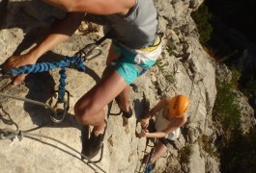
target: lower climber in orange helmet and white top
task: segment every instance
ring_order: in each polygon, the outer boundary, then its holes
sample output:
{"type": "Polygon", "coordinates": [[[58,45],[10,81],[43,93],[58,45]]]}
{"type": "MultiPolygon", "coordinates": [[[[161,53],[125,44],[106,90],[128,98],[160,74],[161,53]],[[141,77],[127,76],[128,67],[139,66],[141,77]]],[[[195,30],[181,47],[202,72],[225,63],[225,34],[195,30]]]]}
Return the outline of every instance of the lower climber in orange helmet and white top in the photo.
{"type": "Polygon", "coordinates": [[[170,143],[180,136],[180,127],[185,124],[187,119],[185,111],[188,104],[189,100],[185,95],[177,95],[172,99],[164,97],[140,120],[143,128],[139,134],[140,137],[159,138],[156,143],[155,154],[150,161],[152,164],[166,152],[170,143]],[[150,133],[147,128],[153,116],[156,116],[156,132],[150,133]]]}

